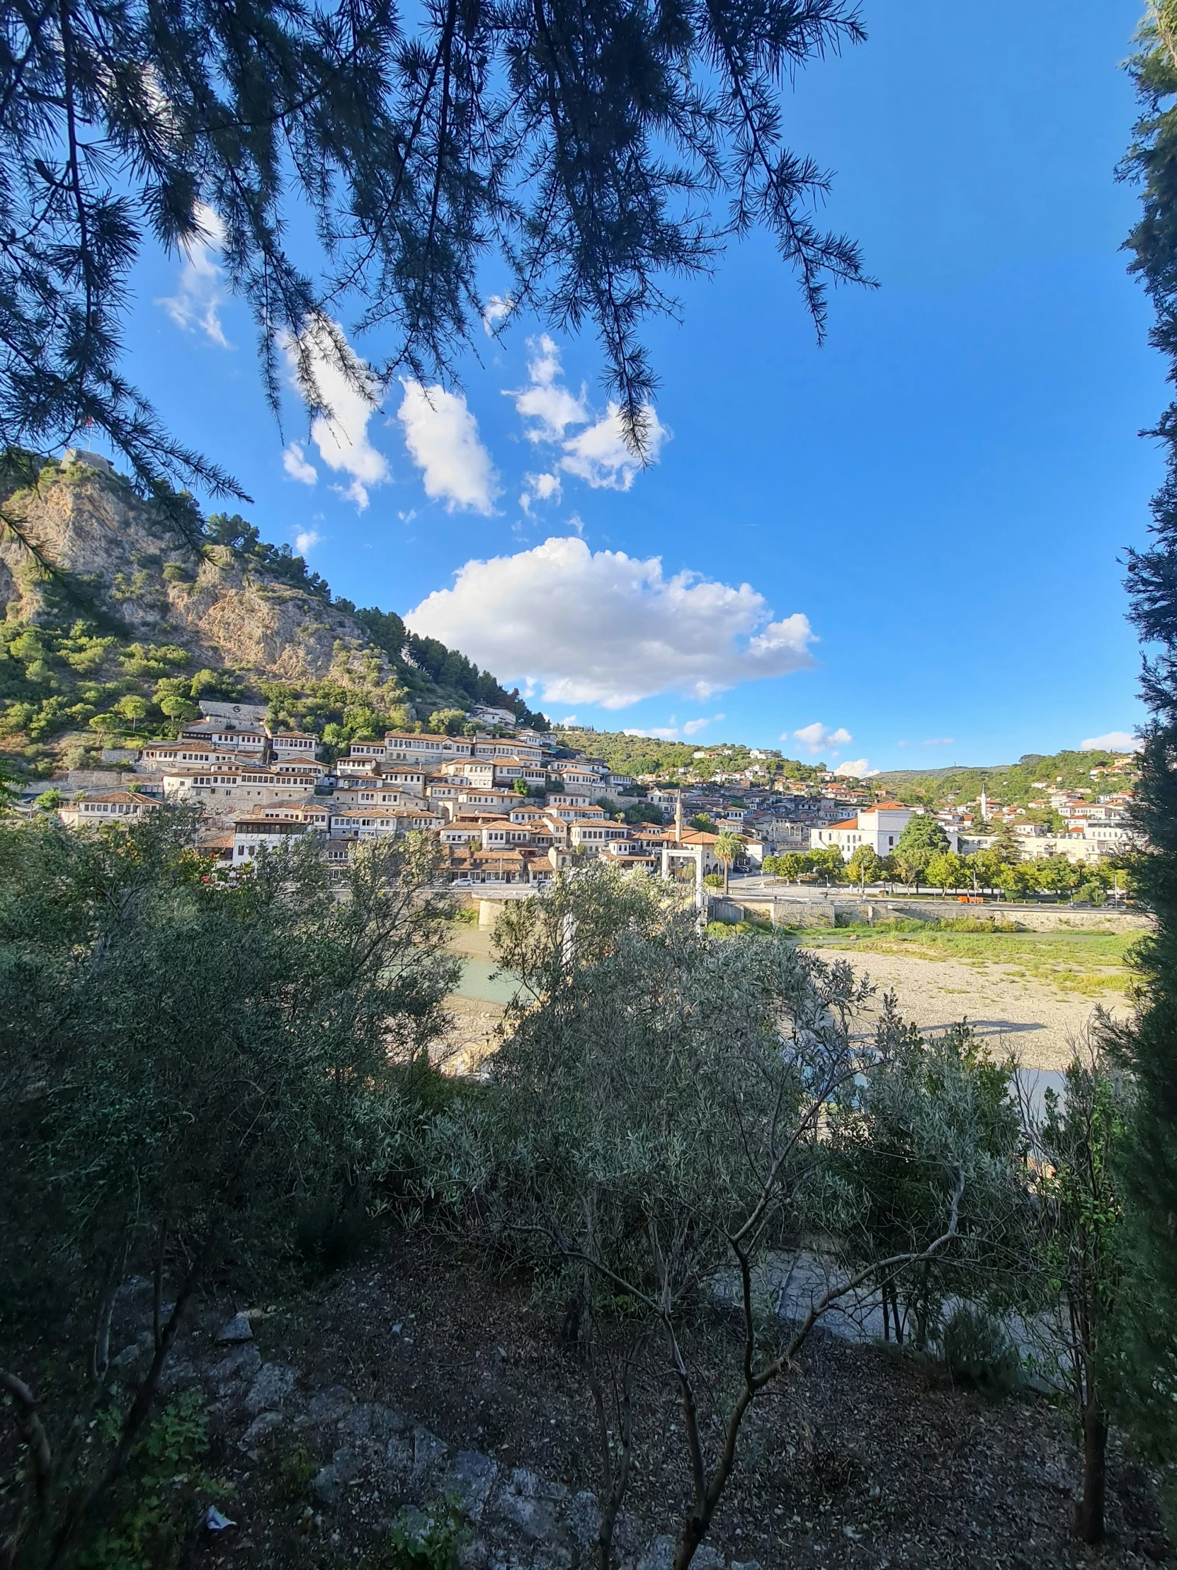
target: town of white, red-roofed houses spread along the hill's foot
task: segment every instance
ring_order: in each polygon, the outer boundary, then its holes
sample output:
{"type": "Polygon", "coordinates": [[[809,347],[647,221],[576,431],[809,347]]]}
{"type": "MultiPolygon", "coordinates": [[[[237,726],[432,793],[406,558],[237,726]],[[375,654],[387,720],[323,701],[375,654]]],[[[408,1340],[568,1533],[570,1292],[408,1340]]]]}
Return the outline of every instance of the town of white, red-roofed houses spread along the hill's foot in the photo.
{"type": "MultiPolygon", "coordinates": [[[[501,710],[472,711],[471,735],[389,732],[328,761],[315,735],[273,728],[265,705],[199,708],[174,739],[110,749],[118,772],[75,771],[50,782],[52,794],[27,791],[27,807],[53,804],[77,827],[129,821],[160,802],[195,804],[207,823],[202,849],[226,873],[301,835],[342,868],[366,842],[417,831],[438,840],[455,885],[543,885],[596,857],[662,876],[689,862],[684,870],[701,882],[720,867],[720,835],[738,837],[739,865],[753,873],[772,871],[788,853],[836,851],[849,864],[868,848],[882,860],[929,810],[879,799],[869,782],[783,777],[767,755],[703,782],[632,777],[559,736],[510,725],[501,710]]],[[[1028,807],[982,788],[976,802],[929,815],[959,856],[1012,832],[1025,860],[1099,864],[1133,842],[1130,761],[1092,768],[1088,790],[1036,780],[1040,796],[1028,807]]]]}

